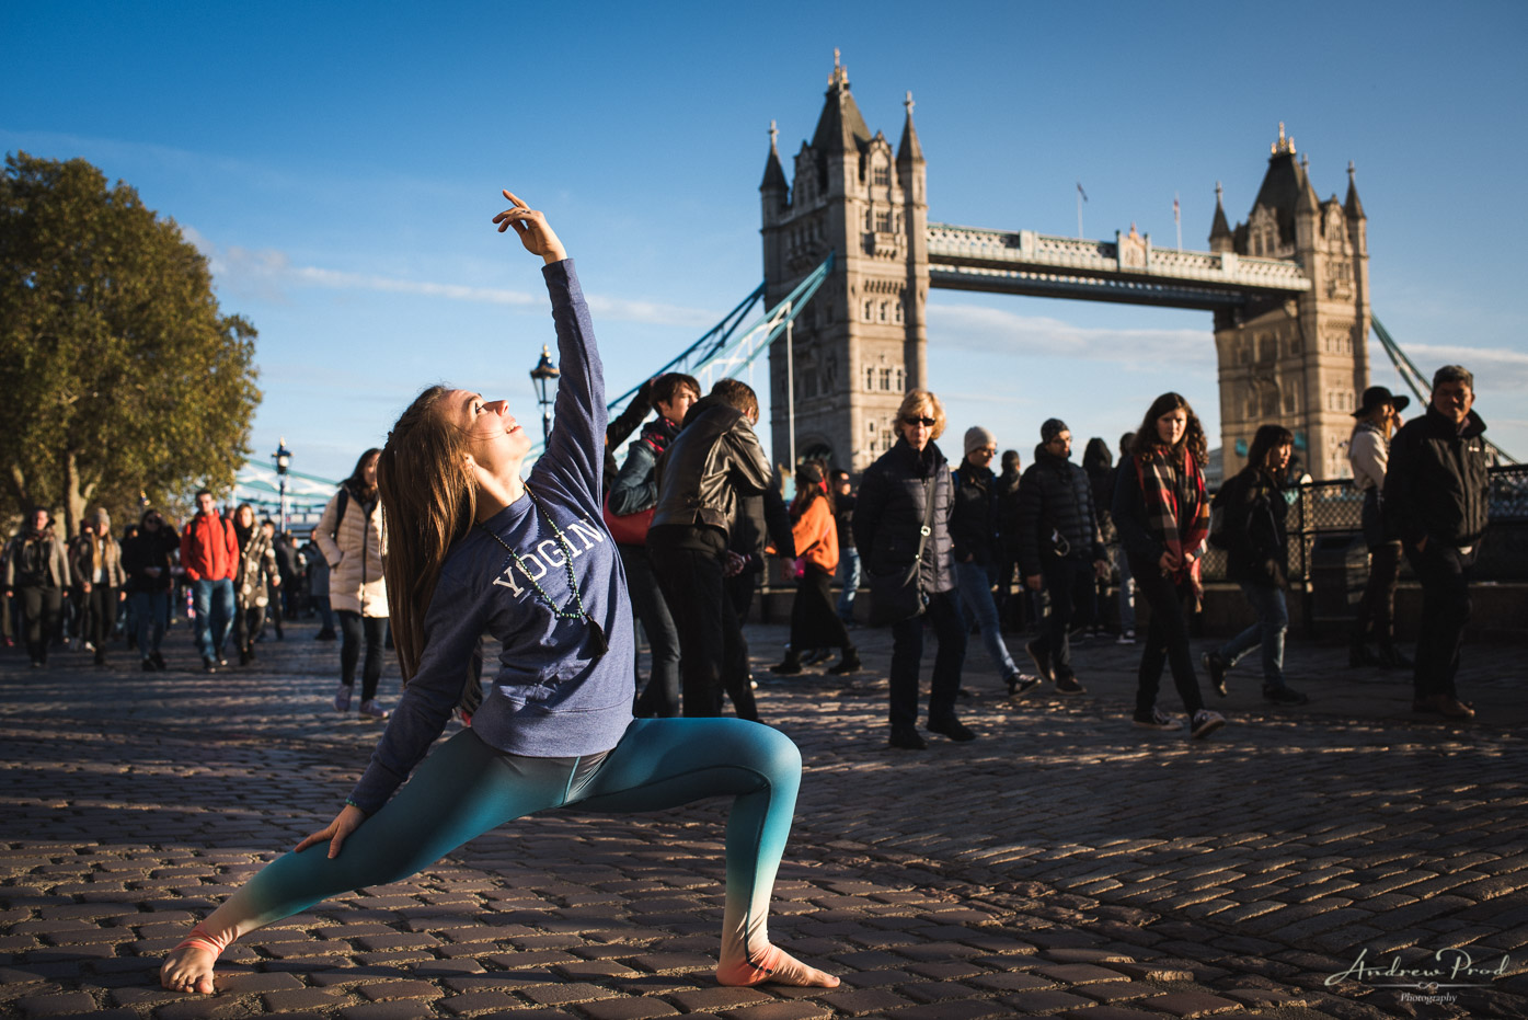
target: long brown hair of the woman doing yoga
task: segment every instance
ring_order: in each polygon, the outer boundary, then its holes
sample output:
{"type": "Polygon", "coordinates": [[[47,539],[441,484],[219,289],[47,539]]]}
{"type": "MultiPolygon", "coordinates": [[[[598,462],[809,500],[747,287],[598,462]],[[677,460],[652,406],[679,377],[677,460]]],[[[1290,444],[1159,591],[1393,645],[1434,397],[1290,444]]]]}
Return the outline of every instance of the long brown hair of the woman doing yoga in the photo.
{"type": "Polygon", "coordinates": [[[435,593],[451,544],[477,520],[477,486],[468,474],[466,433],[446,419],[432,385],[393,425],[377,457],[377,489],[387,521],[388,615],[403,682],[419,670],[425,651],[425,612],[435,593]]]}

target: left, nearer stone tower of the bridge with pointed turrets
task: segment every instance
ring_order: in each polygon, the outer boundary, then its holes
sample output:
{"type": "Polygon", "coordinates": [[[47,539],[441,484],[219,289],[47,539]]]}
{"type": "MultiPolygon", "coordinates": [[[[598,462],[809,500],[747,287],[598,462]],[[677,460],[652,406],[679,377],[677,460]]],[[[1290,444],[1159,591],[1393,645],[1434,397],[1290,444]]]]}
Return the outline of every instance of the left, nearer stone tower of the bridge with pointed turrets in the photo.
{"type": "Polygon", "coordinates": [[[787,387],[795,388],[796,456],[859,474],[895,442],[902,396],[927,376],[927,174],[912,93],[906,109],[892,151],[865,125],[834,50],[817,128],[795,158],[795,187],[770,125],[759,184],[766,303],[781,301],[834,254],[833,272],[796,318],[792,356],[784,333],[770,347],[776,462],[790,456],[787,387]]]}

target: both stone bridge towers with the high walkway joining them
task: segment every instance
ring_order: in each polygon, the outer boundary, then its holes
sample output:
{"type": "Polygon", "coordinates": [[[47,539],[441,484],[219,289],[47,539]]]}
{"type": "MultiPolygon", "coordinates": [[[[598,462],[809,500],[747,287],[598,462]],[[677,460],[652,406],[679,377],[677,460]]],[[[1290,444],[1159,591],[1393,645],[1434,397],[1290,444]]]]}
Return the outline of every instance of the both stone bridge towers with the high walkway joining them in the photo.
{"type": "Polygon", "coordinates": [[[892,148],[871,135],[834,55],[793,185],[770,130],[759,185],[769,304],[836,255],[790,339],[770,349],[778,460],[792,448],[792,408],[798,457],[859,474],[895,442],[902,395],[927,379],[927,294],[946,287],[1210,310],[1225,473],[1265,422],[1296,433],[1316,479],[1348,473],[1369,335],[1366,219],[1351,165],[1346,200],[1320,202],[1280,125],[1247,222],[1232,229],[1216,187],[1207,252],[1157,249],[1134,228],[1097,242],[931,223],[912,106],[909,93],[892,148]]]}

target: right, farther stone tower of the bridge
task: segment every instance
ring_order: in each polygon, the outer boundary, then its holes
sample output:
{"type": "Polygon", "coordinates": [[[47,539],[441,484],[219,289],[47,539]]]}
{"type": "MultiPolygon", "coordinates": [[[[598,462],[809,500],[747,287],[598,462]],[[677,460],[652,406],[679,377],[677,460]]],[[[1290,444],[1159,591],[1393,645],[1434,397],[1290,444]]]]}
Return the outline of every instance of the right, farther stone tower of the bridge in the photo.
{"type": "Polygon", "coordinates": [[[1215,312],[1225,477],[1245,465],[1253,433],[1267,422],[1296,434],[1313,477],[1345,477],[1352,411],[1369,379],[1368,219],[1352,164],[1346,200],[1319,200],[1309,161],[1296,161],[1280,124],[1251,213],[1235,229],[1216,185],[1210,251],[1293,260],[1311,281],[1294,297],[1254,297],[1215,312]]]}

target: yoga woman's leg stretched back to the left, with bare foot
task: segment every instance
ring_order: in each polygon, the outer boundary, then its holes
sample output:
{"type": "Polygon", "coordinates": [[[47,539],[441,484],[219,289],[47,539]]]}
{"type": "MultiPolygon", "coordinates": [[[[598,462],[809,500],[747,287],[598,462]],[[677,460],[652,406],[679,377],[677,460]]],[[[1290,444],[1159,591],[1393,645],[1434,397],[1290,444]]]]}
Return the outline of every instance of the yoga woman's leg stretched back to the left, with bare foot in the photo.
{"type": "Polygon", "coordinates": [[[338,856],[329,844],[267,864],[191,930],[159,971],[171,991],[212,991],[212,965],[235,939],[353,888],[420,872],[510,818],[562,803],[588,759],[503,754],[471,729],[435,749],[414,777],[356,829],[338,856]]]}

